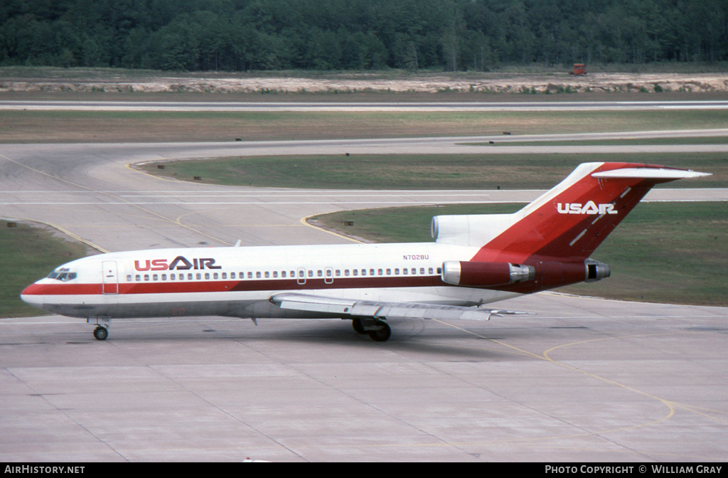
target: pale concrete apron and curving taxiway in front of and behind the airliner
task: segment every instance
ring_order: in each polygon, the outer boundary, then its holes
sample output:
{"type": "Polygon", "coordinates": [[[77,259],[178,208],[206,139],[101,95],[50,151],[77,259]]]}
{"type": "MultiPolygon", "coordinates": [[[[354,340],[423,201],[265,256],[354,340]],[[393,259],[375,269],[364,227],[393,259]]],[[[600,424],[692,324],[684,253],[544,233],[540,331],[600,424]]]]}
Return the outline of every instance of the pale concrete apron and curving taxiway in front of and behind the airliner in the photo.
{"type": "MultiPolygon", "coordinates": [[[[52,224],[105,251],[238,239],[345,243],[301,218],[539,195],[214,187],[128,167],[242,154],[483,148],[462,146],[462,139],[4,145],[0,216],[52,224]]],[[[721,145],[686,147],[696,146],[721,145]]],[[[656,189],[648,197],[695,198],[728,200],[728,190],[656,189]]],[[[659,462],[728,455],[728,308],[559,294],[507,307],[537,315],[485,324],[404,321],[384,343],[338,320],[115,321],[111,338],[98,342],[78,319],[3,319],[0,461],[659,462]]]]}

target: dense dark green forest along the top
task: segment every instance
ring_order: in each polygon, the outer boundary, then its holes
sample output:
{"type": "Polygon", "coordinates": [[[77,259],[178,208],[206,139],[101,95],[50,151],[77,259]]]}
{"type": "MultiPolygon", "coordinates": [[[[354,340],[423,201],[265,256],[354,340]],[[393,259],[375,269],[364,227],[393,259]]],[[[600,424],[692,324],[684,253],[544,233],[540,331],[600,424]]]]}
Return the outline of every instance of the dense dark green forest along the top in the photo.
{"type": "Polygon", "coordinates": [[[0,65],[175,71],[728,60],[728,0],[2,0],[0,65]]]}

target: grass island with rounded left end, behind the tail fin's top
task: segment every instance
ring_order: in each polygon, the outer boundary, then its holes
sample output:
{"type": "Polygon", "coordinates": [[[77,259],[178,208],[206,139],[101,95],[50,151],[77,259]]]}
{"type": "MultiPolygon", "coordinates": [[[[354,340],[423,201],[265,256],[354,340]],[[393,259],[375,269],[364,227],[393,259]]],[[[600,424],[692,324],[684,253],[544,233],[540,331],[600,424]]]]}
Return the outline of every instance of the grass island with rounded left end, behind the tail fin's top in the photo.
{"type": "Polygon", "coordinates": [[[646,162],[712,173],[667,187],[728,187],[728,153],[351,154],[232,157],[143,165],[151,174],[211,184],[314,189],[548,189],[582,162],[646,162]]]}

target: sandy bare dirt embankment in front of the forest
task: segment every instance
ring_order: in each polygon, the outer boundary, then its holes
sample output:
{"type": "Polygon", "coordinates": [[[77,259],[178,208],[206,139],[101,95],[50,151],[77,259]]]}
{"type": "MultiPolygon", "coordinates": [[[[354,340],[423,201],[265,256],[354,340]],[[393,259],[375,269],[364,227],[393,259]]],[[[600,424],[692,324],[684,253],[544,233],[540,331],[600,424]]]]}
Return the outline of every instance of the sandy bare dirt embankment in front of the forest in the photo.
{"type": "Polygon", "coordinates": [[[622,74],[585,76],[502,74],[453,78],[411,76],[400,79],[290,77],[154,77],[105,79],[0,79],[0,92],[191,92],[191,93],[661,93],[725,92],[728,73],[622,74]]]}

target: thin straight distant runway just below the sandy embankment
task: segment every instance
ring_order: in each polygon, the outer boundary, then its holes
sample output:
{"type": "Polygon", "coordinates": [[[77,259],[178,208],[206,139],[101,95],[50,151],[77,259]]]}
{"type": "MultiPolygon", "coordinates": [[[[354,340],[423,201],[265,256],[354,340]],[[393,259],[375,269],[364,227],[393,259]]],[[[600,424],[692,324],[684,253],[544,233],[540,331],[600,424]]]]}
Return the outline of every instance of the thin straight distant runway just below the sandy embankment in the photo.
{"type": "Polygon", "coordinates": [[[68,111],[650,111],[728,109],[728,101],[483,101],[483,102],[286,102],[286,101],[0,101],[0,110],[68,111]]]}

